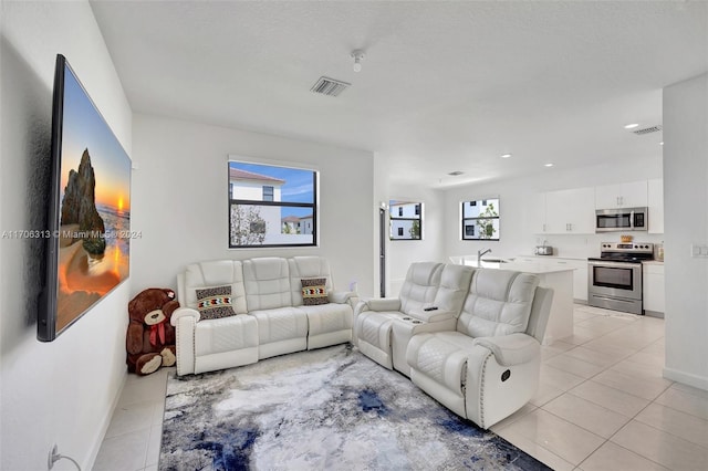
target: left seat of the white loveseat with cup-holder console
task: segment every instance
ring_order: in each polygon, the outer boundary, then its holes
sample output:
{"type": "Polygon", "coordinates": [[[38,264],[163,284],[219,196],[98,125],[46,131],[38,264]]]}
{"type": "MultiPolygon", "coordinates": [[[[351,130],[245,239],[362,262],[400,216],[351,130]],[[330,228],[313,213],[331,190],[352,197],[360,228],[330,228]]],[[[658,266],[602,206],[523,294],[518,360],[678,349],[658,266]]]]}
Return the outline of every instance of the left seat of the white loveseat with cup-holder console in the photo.
{"type": "Polygon", "coordinates": [[[356,306],[355,345],[376,363],[408,376],[410,337],[455,328],[473,271],[465,265],[413,263],[398,297],[367,300],[356,306]]]}

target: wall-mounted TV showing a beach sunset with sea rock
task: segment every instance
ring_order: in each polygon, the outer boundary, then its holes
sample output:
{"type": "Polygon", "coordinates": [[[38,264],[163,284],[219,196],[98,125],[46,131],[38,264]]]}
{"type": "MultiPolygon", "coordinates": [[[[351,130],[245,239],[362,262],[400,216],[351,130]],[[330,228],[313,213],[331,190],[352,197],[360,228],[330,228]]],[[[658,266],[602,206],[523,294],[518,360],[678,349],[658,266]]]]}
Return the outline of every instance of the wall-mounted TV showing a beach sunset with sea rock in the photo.
{"type": "Polygon", "coordinates": [[[131,158],[61,54],[51,151],[42,342],[74,324],[129,272],[131,158]]]}

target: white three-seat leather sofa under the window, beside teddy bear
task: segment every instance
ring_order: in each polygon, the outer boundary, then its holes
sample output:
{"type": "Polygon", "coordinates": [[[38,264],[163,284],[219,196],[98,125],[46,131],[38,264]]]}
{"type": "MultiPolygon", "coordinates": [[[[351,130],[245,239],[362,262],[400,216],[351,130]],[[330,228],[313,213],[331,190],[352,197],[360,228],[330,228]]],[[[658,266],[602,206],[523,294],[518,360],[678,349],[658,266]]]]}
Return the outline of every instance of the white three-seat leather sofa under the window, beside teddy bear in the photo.
{"type": "Polygon", "coordinates": [[[336,292],[320,257],[194,263],[177,276],[177,374],[198,374],[350,342],[355,293],[336,292]],[[303,279],[324,279],[326,304],[304,305],[303,279]],[[237,315],[201,320],[197,290],[230,286],[237,315]]]}

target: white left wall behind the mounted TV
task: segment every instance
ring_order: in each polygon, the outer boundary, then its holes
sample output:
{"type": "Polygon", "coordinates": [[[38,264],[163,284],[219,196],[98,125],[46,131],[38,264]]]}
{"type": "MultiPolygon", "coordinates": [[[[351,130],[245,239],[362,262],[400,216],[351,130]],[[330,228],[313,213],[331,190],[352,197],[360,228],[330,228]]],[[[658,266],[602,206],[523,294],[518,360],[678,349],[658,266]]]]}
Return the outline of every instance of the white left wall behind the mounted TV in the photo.
{"type": "MultiPolygon", "coordinates": [[[[0,8],[0,231],[41,229],[56,53],[67,57],[128,153],[132,113],[87,2],[3,1],[0,8]]],[[[0,469],[46,469],[54,443],[90,469],[125,379],[129,280],[42,344],[43,245],[0,239],[0,469]]],[[[75,468],[62,460],[54,469],[75,468]]]]}

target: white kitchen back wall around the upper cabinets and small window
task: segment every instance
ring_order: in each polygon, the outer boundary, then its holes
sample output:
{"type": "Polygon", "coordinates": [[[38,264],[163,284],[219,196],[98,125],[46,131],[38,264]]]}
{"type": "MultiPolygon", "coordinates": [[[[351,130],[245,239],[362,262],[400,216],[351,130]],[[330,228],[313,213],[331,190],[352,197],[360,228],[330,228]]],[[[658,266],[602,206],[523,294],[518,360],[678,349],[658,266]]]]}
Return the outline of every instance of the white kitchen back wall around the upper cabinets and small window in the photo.
{"type": "MultiPolygon", "coordinates": [[[[545,169],[544,169],[545,170],[545,169]]],[[[492,181],[481,185],[466,185],[445,191],[445,258],[456,255],[476,255],[480,249],[492,249],[491,255],[511,258],[531,255],[537,244],[548,240],[556,248],[559,257],[581,258],[600,255],[600,243],[620,241],[620,234],[589,236],[539,236],[533,233],[535,203],[534,196],[540,191],[566,188],[593,187],[637,181],[662,177],[660,149],[656,156],[641,160],[613,161],[612,165],[597,165],[579,169],[551,168],[527,177],[492,181]],[[500,240],[462,241],[460,229],[460,202],[499,196],[500,240]]],[[[662,234],[636,233],[635,239],[646,242],[660,242],[662,234]]]]}

